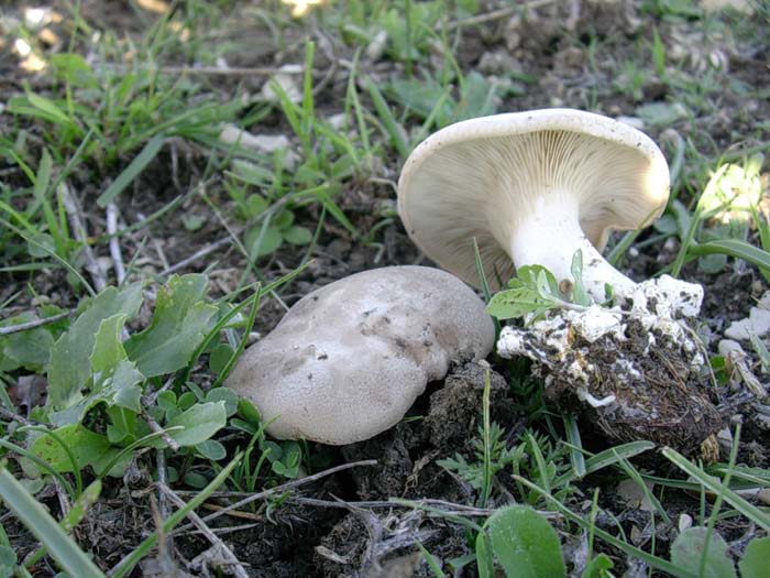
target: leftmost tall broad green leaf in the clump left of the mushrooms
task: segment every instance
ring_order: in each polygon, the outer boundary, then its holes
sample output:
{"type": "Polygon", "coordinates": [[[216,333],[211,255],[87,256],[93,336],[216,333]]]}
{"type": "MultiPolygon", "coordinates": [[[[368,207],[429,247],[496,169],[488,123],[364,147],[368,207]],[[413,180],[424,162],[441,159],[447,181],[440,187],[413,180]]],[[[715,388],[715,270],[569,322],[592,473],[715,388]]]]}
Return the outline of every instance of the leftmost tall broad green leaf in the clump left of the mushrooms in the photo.
{"type": "Polygon", "coordinates": [[[118,314],[133,317],[141,304],[140,284],[121,290],[107,287],[86,304],[69,330],[51,350],[48,402],[54,410],[66,410],[82,399],[81,390],[91,377],[90,357],[102,319],[118,314]]]}

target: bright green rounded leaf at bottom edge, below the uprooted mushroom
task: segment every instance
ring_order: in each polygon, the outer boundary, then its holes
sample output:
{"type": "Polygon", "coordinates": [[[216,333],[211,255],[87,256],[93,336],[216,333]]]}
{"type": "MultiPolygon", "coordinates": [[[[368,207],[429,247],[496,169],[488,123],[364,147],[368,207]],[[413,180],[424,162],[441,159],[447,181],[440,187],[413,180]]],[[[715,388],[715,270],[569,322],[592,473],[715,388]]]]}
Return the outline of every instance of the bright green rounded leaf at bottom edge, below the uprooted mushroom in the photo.
{"type": "Polygon", "coordinates": [[[492,552],[507,578],[566,576],[559,536],[531,508],[502,508],[490,516],[485,527],[490,531],[492,552]]]}

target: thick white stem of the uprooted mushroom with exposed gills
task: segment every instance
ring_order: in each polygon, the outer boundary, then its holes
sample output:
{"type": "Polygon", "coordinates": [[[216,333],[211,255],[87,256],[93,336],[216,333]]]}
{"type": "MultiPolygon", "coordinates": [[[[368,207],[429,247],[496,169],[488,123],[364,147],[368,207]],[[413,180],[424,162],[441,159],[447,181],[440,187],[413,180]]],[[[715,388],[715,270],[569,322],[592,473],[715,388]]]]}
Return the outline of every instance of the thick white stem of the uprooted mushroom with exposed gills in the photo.
{"type": "Polygon", "coordinates": [[[605,283],[616,295],[629,296],[636,283],[610,265],[588,241],[580,226],[579,205],[574,194],[547,192],[535,198],[531,211],[514,228],[510,259],[519,268],[539,264],[558,281],[572,276],[572,258],[583,253],[583,285],[592,298],[604,302],[605,283]]]}

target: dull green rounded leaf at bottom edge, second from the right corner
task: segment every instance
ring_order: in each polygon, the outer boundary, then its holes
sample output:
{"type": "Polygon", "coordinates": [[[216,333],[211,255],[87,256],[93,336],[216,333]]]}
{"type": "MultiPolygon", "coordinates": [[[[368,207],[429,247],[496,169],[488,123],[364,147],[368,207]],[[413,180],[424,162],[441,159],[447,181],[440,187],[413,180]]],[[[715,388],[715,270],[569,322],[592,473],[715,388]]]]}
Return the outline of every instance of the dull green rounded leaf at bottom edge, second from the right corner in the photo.
{"type": "Polygon", "coordinates": [[[716,532],[708,536],[708,528],[693,526],[683,531],[671,545],[671,561],[682,568],[698,568],[706,556],[702,578],[734,578],[733,560],[727,556],[727,544],[716,532]]]}

